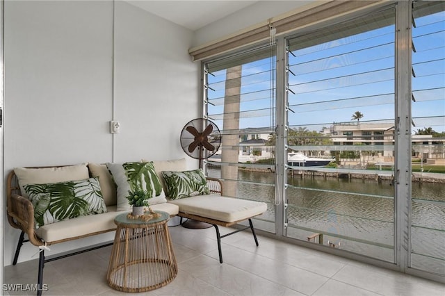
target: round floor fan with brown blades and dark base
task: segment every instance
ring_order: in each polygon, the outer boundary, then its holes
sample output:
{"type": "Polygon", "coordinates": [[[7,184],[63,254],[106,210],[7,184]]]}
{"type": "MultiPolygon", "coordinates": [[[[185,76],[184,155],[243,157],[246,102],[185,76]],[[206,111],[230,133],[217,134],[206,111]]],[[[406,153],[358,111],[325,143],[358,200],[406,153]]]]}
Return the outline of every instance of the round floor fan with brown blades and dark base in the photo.
{"type": "MultiPolygon", "coordinates": [[[[221,133],[218,126],[205,118],[196,118],[188,122],[182,129],[179,139],[184,152],[198,159],[200,167],[202,167],[202,161],[216,154],[221,145],[221,133]]],[[[182,226],[202,229],[211,227],[211,224],[189,219],[182,226]]]]}

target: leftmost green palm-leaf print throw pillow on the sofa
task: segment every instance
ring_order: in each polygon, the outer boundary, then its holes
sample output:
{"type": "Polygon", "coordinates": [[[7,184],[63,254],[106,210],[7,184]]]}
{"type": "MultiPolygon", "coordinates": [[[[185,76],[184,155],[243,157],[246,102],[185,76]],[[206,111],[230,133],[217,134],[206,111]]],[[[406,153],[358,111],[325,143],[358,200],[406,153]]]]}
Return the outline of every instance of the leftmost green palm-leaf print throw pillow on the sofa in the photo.
{"type": "Polygon", "coordinates": [[[34,206],[35,228],[83,215],[106,213],[97,177],[81,181],[26,184],[34,206]]]}

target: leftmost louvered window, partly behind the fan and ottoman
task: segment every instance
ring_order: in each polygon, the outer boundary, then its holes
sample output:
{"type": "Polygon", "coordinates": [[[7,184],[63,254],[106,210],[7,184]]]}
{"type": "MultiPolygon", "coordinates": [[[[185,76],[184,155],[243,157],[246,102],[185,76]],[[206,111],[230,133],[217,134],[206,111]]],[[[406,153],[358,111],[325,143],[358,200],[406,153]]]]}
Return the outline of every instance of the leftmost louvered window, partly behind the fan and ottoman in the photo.
{"type": "Polygon", "coordinates": [[[268,204],[255,226],[275,231],[275,47],[256,47],[204,63],[204,116],[221,131],[207,161],[225,195],[268,204]]]}

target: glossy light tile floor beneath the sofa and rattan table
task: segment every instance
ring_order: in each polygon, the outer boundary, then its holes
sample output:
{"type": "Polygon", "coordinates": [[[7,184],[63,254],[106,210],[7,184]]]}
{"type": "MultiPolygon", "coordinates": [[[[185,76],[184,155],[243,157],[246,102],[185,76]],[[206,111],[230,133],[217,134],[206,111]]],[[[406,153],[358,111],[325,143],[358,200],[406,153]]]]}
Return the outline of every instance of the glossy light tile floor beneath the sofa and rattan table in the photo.
{"type": "MultiPolygon", "coordinates": [[[[221,228],[221,233],[228,229],[221,228]]],[[[213,227],[170,227],[179,272],[168,285],[137,295],[403,295],[444,296],[445,284],[258,236],[223,238],[218,261],[213,227]]],[[[106,283],[111,247],[45,264],[43,295],[124,295],[106,283]]],[[[35,284],[37,261],[4,269],[4,283],[35,284]]],[[[4,292],[35,295],[35,292],[4,292]]]]}

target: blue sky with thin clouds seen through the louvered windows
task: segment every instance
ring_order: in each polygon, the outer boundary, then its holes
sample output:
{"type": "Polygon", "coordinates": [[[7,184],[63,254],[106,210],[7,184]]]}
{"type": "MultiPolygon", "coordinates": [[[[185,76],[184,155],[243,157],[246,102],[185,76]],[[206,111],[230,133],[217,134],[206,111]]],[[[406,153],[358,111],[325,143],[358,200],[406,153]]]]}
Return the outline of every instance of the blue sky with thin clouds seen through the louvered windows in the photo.
{"type": "MultiPolygon", "coordinates": [[[[356,111],[364,115],[361,122],[394,122],[395,37],[390,25],[303,49],[298,38],[289,40],[289,126],[320,131],[333,122],[355,122],[356,111]]],[[[445,12],[417,18],[412,43],[412,132],[445,131],[445,12]]],[[[274,60],[242,67],[241,129],[275,126],[274,60]]],[[[209,115],[224,112],[225,79],[225,70],[208,75],[208,97],[215,104],[209,115]]]]}

